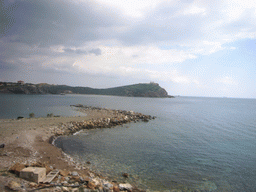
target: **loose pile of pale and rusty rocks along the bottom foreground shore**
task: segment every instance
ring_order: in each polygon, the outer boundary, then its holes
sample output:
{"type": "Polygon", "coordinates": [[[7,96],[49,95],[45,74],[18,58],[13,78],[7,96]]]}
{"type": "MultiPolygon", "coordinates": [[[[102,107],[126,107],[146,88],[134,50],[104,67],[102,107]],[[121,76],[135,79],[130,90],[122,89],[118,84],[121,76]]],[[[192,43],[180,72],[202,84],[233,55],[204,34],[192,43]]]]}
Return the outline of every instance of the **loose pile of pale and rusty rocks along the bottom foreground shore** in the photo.
{"type": "MultiPolygon", "coordinates": [[[[44,164],[38,164],[37,166],[44,164]]],[[[18,176],[21,167],[27,165],[16,164],[9,171],[15,172],[18,176]]],[[[46,167],[48,168],[48,167],[46,167]]],[[[12,190],[26,191],[36,190],[40,191],[86,191],[86,192],[119,192],[119,191],[140,191],[135,189],[129,183],[109,182],[105,179],[95,176],[93,173],[89,175],[79,174],[76,171],[59,170],[59,174],[53,179],[51,183],[35,183],[29,181],[10,181],[7,187],[12,190]],[[24,190],[25,189],[25,190],[24,190]]]]}

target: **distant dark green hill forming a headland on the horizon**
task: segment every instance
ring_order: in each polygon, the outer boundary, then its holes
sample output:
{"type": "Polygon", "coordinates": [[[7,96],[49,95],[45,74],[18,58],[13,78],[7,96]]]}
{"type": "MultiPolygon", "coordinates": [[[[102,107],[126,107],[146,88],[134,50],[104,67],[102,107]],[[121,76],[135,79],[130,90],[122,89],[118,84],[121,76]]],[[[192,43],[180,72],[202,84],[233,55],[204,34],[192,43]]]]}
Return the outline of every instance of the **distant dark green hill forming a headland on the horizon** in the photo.
{"type": "Polygon", "coordinates": [[[90,87],[71,87],[67,85],[49,85],[46,83],[0,83],[0,93],[14,94],[93,94],[128,97],[172,97],[157,83],[140,83],[121,87],[94,89],[90,87]]]}

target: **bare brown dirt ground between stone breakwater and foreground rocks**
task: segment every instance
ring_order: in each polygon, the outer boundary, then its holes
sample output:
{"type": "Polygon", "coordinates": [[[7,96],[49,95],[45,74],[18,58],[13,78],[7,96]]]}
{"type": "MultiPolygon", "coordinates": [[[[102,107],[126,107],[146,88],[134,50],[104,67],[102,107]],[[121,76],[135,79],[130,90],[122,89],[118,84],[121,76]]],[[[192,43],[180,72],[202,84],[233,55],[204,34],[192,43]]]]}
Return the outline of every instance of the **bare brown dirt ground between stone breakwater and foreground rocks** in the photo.
{"type": "MultiPolygon", "coordinates": [[[[4,186],[11,179],[20,180],[14,174],[7,172],[17,162],[28,165],[41,162],[56,169],[76,170],[74,165],[68,163],[61,149],[49,143],[49,138],[52,136],[51,130],[61,123],[109,116],[107,112],[90,110],[85,112],[87,116],[83,117],[0,119],[0,144],[5,144],[5,147],[0,149],[0,191],[6,190],[4,186]]],[[[78,172],[89,174],[88,170],[78,172]]]]}

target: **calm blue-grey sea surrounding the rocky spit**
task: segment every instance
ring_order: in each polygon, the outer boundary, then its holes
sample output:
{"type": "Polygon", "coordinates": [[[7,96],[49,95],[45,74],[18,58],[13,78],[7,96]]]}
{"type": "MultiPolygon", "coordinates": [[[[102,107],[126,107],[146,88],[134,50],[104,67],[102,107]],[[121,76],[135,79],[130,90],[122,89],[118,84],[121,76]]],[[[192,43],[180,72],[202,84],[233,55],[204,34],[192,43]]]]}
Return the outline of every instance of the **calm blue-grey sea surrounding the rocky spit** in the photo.
{"type": "Polygon", "coordinates": [[[0,95],[0,118],[83,116],[70,105],[156,116],[59,137],[56,145],[118,182],[157,191],[256,191],[256,99],[0,95]],[[122,177],[128,173],[129,177],[122,177]]]}

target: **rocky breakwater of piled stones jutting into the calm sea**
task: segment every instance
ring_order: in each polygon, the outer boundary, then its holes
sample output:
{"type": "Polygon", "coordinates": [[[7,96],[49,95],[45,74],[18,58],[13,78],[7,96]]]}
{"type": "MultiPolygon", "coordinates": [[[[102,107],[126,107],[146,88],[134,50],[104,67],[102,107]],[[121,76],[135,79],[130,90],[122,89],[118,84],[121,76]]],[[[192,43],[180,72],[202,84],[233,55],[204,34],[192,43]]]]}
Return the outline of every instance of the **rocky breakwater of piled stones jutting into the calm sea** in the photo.
{"type": "MultiPolygon", "coordinates": [[[[144,115],[141,113],[125,110],[115,110],[115,109],[106,109],[99,107],[91,107],[84,105],[72,105],[76,107],[81,112],[98,112],[104,114],[102,118],[85,120],[81,122],[72,121],[69,123],[61,124],[58,127],[52,130],[54,137],[61,135],[70,135],[74,134],[80,130],[84,129],[95,129],[95,128],[111,128],[115,126],[120,126],[130,122],[148,122],[151,119],[155,119],[155,116],[144,115]]],[[[52,141],[52,139],[51,139],[52,141]]]]}

